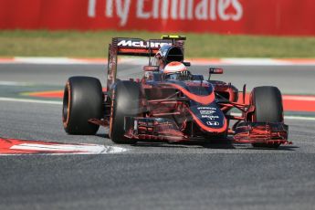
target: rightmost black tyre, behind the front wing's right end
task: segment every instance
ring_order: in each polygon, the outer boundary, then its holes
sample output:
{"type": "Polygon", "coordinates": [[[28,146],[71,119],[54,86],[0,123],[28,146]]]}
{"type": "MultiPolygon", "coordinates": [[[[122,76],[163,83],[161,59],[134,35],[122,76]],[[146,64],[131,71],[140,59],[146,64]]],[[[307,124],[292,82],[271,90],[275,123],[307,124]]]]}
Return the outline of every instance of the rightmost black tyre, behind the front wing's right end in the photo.
{"type": "MultiPolygon", "coordinates": [[[[281,92],[276,87],[257,87],[252,91],[251,102],[255,105],[253,120],[257,122],[282,122],[281,92]]],[[[279,144],[253,143],[254,147],[278,148],[279,144]]]]}

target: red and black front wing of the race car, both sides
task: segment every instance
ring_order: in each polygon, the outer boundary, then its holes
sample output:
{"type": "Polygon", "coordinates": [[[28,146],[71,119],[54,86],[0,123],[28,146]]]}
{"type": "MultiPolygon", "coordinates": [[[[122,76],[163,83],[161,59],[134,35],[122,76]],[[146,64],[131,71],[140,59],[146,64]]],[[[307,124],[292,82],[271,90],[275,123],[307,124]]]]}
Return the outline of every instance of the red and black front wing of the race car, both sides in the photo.
{"type": "MultiPolygon", "coordinates": [[[[191,138],[180,131],[176,123],[164,118],[125,117],[125,137],[143,141],[184,142],[191,138]]],[[[278,122],[244,122],[236,126],[234,142],[290,144],[288,125],[278,122]]]]}

